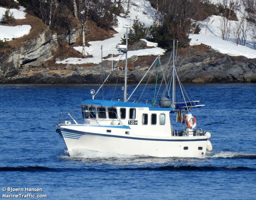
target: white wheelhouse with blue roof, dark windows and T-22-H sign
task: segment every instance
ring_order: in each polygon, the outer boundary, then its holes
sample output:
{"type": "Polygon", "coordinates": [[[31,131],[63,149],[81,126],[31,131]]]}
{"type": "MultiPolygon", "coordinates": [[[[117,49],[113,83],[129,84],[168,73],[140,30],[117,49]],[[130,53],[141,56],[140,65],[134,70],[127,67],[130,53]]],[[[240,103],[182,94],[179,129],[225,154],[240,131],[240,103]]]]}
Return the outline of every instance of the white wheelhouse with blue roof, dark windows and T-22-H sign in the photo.
{"type": "Polygon", "coordinates": [[[159,127],[164,130],[164,125],[169,124],[168,132],[171,132],[169,113],[172,108],[108,100],[84,100],[79,106],[82,107],[84,124],[127,124],[142,126],[143,129],[148,129],[147,132],[159,131],[159,127]]]}

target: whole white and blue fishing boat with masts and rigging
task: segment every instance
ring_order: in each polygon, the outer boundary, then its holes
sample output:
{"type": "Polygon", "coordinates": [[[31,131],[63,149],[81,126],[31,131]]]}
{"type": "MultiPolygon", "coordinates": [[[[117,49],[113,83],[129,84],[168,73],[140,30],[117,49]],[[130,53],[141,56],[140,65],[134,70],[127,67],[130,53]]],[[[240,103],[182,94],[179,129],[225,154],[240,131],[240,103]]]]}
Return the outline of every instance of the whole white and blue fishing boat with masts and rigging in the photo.
{"type": "Polygon", "coordinates": [[[57,124],[56,132],[64,140],[68,152],[74,149],[88,149],[121,155],[204,156],[206,150],[212,150],[209,140],[211,134],[204,129],[196,129],[196,118],[191,112],[192,108],[204,105],[199,105],[198,100],[190,100],[180,82],[175,67],[174,41],[172,65],[168,65],[169,67],[165,69],[161,68],[160,57],[157,56],[127,98],[127,34],[128,28],[126,28],[126,44],[116,46],[120,52],[123,52],[123,55],[126,55],[124,70],[116,70],[117,62],[106,79],[102,81],[97,92],[91,90],[92,99],[82,100],[78,104],[81,106],[82,122],[77,122],[71,113],[68,113],[71,120],[64,121],[60,113],[62,122],[60,120],[57,124]],[[154,95],[150,103],[130,101],[142,80],[156,66],[156,63],[163,72],[160,87],[163,83],[165,85],[159,102],[157,102],[157,95],[154,95]],[[96,99],[112,73],[124,73],[123,101],[96,99]],[[183,96],[180,102],[176,102],[176,85],[179,86],[183,96]],[[176,115],[176,121],[181,122],[180,130],[172,127],[174,123],[171,121],[172,115],[176,115]]]}

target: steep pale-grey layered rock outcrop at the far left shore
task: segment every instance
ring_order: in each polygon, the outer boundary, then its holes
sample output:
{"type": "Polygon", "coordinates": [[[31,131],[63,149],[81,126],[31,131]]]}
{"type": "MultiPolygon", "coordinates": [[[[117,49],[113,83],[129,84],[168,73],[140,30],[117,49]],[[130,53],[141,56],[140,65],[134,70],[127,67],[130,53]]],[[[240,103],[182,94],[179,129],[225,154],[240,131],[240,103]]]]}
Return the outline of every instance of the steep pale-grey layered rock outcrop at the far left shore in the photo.
{"type": "Polygon", "coordinates": [[[18,74],[18,68],[29,65],[39,66],[51,59],[57,51],[57,35],[46,29],[37,37],[24,42],[20,49],[0,55],[0,76],[13,76],[18,74]]]}

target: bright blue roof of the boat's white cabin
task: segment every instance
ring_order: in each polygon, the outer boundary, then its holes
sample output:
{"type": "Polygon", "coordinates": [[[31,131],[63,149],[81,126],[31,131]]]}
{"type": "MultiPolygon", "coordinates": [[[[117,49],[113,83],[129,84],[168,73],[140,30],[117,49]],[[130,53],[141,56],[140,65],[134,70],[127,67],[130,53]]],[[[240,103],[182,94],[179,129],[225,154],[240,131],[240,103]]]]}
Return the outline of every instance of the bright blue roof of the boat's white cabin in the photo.
{"type": "Polygon", "coordinates": [[[78,106],[82,105],[95,105],[95,106],[107,106],[107,107],[133,107],[133,108],[149,108],[149,110],[169,110],[172,111],[172,108],[157,108],[152,107],[151,104],[144,103],[132,103],[132,102],[124,102],[124,101],[110,101],[110,100],[100,100],[100,99],[86,99],[82,100],[78,104],[78,106]]]}

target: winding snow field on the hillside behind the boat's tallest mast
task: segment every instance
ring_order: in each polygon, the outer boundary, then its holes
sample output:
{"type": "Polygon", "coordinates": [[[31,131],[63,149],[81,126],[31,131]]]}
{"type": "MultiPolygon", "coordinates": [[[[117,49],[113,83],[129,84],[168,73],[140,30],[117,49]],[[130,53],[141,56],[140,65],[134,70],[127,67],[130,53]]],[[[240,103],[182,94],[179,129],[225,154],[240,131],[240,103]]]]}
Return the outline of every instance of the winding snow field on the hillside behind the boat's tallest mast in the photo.
{"type": "MultiPolygon", "coordinates": [[[[85,51],[88,52],[90,55],[92,55],[92,58],[68,58],[66,60],[61,60],[61,61],[56,61],[56,63],[63,63],[63,64],[82,64],[82,63],[95,63],[98,64],[101,62],[101,45],[103,46],[102,48],[102,54],[103,57],[107,56],[108,54],[118,54],[118,51],[116,49],[116,45],[121,43],[121,37],[124,37],[124,33],[126,33],[126,28],[123,28],[123,24],[130,24],[132,26],[132,20],[135,18],[135,16],[140,19],[142,23],[144,23],[146,26],[150,26],[155,17],[155,9],[151,7],[149,1],[143,1],[143,0],[137,0],[135,1],[136,4],[131,4],[130,6],[130,15],[129,18],[124,18],[124,17],[119,17],[117,16],[118,19],[118,26],[115,27],[114,29],[118,32],[117,34],[113,35],[113,37],[103,40],[103,41],[93,41],[89,42],[91,46],[86,47],[85,51]],[[147,14],[143,14],[147,13],[147,14]]],[[[124,8],[126,10],[127,8],[124,8]]],[[[145,40],[146,41],[146,40],[145,40]]],[[[128,58],[133,56],[133,55],[163,55],[165,52],[164,49],[161,49],[157,47],[156,43],[149,43],[147,42],[148,46],[154,46],[154,48],[151,49],[141,49],[137,51],[129,51],[128,52],[128,58]]],[[[75,49],[79,52],[82,52],[82,47],[78,46],[75,47],[75,49]]],[[[121,57],[117,56],[114,57],[113,60],[119,60],[121,57]]],[[[123,57],[122,59],[125,59],[123,57]]],[[[112,58],[108,59],[103,59],[103,60],[112,60],[112,58]]]]}

